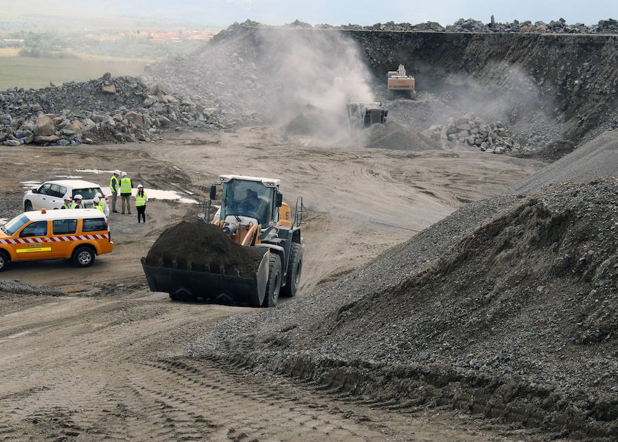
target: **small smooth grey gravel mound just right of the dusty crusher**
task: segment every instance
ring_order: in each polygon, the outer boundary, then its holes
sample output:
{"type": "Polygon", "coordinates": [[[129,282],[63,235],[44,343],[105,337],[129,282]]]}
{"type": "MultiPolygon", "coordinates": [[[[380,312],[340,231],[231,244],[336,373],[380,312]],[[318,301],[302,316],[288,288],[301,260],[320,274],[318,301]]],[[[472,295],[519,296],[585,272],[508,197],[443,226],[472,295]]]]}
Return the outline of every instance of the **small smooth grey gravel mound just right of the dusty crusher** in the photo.
{"type": "Polygon", "coordinates": [[[396,150],[428,150],[439,149],[440,145],[407,125],[387,121],[384,124],[374,124],[369,127],[367,147],[396,150]]]}

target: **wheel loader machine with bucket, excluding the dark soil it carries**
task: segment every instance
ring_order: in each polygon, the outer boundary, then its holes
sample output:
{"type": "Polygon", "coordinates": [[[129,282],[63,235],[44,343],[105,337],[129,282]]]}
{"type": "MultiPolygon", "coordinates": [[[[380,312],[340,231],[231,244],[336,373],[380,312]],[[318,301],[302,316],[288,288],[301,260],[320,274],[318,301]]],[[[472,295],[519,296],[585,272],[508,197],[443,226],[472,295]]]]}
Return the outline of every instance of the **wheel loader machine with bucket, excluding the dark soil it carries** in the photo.
{"type": "MultiPolygon", "coordinates": [[[[172,300],[201,298],[221,304],[275,307],[279,294],[296,294],[301,278],[302,197],[297,197],[293,213],[282,201],[280,180],[244,175],[220,175],[218,179],[210,188],[201,220],[216,225],[229,241],[247,247],[246,258],[255,260],[257,271],[247,275],[218,266],[196,270],[179,268],[175,261],[166,265],[160,260],[152,265],[141,258],[148,286],[151,291],[169,293],[172,300]],[[221,205],[210,220],[218,186],[222,187],[221,205]]],[[[192,238],[183,241],[187,247],[195,247],[192,238]]]]}

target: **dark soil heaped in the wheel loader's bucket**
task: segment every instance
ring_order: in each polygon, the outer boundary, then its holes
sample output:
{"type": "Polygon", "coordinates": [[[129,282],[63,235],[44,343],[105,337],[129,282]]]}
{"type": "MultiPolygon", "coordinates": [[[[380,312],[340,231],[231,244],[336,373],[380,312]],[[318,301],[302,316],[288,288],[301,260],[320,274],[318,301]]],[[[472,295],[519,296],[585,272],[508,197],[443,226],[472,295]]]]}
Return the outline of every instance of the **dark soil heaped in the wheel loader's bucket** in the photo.
{"type": "Polygon", "coordinates": [[[214,224],[183,221],[165,230],[146,255],[146,264],[251,277],[262,254],[238,245],[214,224]]]}

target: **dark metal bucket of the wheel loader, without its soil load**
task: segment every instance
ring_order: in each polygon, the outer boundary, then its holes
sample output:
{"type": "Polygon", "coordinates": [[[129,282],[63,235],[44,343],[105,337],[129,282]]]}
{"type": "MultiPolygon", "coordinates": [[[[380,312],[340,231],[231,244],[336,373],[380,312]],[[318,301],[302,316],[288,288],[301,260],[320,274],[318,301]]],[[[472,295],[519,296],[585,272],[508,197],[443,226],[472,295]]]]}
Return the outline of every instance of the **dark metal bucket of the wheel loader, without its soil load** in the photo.
{"type": "Polygon", "coordinates": [[[169,293],[172,299],[194,301],[201,298],[219,304],[251,304],[260,306],[268,282],[270,252],[265,247],[251,247],[260,252],[262,260],[251,278],[241,278],[238,271],[211,273],[146,264],[141,266],[151,291],[169,293]]]}

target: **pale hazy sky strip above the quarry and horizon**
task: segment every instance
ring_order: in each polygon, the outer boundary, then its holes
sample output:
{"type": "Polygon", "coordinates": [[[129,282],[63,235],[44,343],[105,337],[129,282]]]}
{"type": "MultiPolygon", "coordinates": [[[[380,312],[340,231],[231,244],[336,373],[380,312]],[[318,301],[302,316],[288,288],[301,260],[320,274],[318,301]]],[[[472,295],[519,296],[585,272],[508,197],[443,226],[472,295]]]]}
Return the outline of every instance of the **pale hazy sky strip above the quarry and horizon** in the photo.
{"type": "Polygon", "coordinates": [[[87,10],[218,27],[246,19],[268,25],[282,25],[295,19],[331,25],[387,21],[413,24],[437,21],[447,25],[470,17],[488,23],[492,14],[501,22],[514,19],[549,22],[562,17],[567,23],[591,25],[601,19],[618,19],[618,0],[0,0],[0,5],[9,9],[21,10],[29,3],[34,6],[30,13],[87,10]]]}

